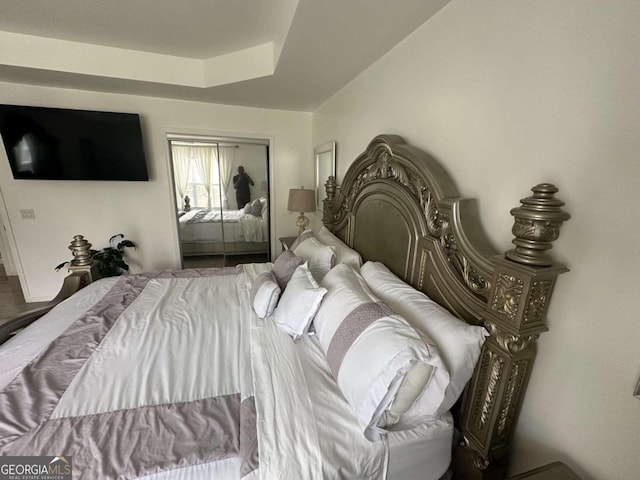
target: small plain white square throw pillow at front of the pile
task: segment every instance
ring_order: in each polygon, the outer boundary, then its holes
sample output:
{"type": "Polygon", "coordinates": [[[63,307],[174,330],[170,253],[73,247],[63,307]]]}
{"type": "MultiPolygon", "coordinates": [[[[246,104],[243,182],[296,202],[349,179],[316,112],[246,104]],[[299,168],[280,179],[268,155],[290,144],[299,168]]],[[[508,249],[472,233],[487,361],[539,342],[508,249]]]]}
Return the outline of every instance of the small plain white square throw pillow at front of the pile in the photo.
{"type": "Polygon", "coordinates": [[[296,268],[274,315],[280,330],[294,340],[305,335],[326,293],[327,289],[318,286],[306,263],[296,268]]]}

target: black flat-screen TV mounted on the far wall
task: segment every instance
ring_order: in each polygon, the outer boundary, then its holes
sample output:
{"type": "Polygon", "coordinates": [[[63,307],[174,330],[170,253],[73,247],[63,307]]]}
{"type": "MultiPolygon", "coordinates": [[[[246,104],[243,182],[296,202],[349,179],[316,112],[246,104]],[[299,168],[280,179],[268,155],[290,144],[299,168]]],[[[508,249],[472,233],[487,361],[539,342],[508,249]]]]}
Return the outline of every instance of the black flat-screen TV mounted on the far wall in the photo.
{"type": "Polygon", "coordinates": [[[16,179],[149,179],[137,114],[0,105],[0,135],[16,179]]]}

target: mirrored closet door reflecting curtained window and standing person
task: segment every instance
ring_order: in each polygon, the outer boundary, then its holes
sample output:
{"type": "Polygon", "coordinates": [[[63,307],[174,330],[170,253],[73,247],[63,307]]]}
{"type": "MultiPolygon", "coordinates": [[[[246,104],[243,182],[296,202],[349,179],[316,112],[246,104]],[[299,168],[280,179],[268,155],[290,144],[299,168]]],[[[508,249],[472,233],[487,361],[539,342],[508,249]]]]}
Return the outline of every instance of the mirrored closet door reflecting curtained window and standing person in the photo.
{"type": "Polygon", "coordinates": [[[268,144],[170,136],[185,268],[269,260],[268,144]]]}

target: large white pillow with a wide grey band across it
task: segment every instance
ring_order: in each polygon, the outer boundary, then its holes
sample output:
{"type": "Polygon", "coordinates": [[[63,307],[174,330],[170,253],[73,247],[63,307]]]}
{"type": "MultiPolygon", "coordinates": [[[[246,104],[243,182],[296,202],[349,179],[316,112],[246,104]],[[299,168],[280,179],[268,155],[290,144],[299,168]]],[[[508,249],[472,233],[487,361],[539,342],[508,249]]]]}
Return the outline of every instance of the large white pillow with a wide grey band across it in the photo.
{"type": "Polygon", "coordinates": [[[449,384],[437,348],[381,303],[352,267],[336,265],[314,319],[332,374],[370,440],[405,415],[433,416],[449,384]]]}

